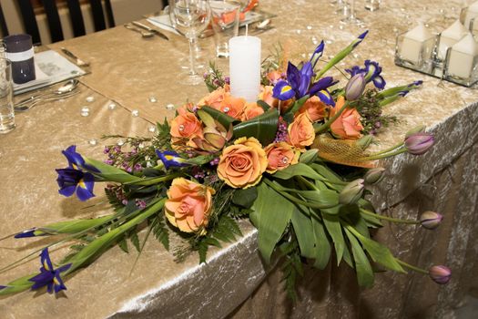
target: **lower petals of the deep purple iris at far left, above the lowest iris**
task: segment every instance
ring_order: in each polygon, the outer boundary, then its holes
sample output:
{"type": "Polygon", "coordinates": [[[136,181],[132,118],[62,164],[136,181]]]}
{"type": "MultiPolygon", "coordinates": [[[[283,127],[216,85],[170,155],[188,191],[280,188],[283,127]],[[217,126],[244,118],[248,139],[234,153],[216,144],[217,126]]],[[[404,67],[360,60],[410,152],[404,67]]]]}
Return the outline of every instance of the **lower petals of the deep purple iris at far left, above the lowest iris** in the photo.
{"type": "Polygon", "coordinates": [[[95,177],[82,170],[72,168],[56,170],[58,178],[56,182],[60,187],[58,192],[66,197],[76,192],[76,197],[80,201],[86,201],[95,196],[93,194],[93,186],[95,185],[95,177]]]}

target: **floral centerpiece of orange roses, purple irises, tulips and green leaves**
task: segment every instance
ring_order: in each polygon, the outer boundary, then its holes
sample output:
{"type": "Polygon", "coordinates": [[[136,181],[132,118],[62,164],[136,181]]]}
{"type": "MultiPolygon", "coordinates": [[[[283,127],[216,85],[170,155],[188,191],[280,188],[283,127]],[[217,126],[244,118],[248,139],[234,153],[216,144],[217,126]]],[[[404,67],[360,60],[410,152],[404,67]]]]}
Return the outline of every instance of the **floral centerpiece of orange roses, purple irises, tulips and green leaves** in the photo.
{"type": "Polygon", "coordinates": [[[379,182],[384,171],[377,160],[404,152],[421,155],[432,147],[433,137],[417,128],[390,149],[367,150],[372,136],[396,120],[381,109],[422,82],[385,89],[381,67],[370,60],[346,69],[345,86],[324,77],[366,35],[320,68],[323,42],[299,65],[279,56],[266,59],[263,86],[253,103],[231,96],[228,78],[212,67],[205,75],[207,97],[178,108],[170,122],[158,123],[151,138],[128,137],[125,145],[107,146],[107,160],[83,157],[75,146],[65,149],[67,167],[56,170],[59,193],[86,201],[95,196],[97,183],[105,182],[114,212],[14,234],[51,236],[52,242],[3,267],[5,272],[40,254],[40,272],[0,286],[0,294],[66,290],[64,279],[102,252],[114,245],[128,252],[127,242],[141,252],[151,233],[169,250],[169,233],[177,232],[188,242],[187,249],[174,250],[178,260],[196,251],[199,262],[206,262],[209,246],[241,235],[237,220],[243,218],[259,231],[264,261],[270,263],[273,255],[283,261],[291,297],[303,262],[323,269],[332,258],[355,269],[361,286],[373,283],[373,263],[448,282],[448,268],[422,270],[371,238],[370,230],[382,221],[432,229],[442,216],[427,211],[418,221],[393,219],[374,211],[367,200],[367,186],[379,182]],[[145,228],[140,242],[137,232],[145,228]],[[74,243],[71,253],[54,264],[48,248],[64,242],[74,243]]]}

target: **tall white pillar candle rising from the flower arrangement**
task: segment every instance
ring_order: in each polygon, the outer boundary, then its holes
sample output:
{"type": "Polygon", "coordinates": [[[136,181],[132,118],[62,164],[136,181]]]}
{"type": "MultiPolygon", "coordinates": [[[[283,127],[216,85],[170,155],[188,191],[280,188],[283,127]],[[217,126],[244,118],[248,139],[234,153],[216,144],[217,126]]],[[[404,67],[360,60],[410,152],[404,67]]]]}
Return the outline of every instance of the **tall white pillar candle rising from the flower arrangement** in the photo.
{"type": "Polygon", "coordinates": [[[229,40],[230,93],[255,102],[260,88],[260,39],[234,36],[229,40]]]}

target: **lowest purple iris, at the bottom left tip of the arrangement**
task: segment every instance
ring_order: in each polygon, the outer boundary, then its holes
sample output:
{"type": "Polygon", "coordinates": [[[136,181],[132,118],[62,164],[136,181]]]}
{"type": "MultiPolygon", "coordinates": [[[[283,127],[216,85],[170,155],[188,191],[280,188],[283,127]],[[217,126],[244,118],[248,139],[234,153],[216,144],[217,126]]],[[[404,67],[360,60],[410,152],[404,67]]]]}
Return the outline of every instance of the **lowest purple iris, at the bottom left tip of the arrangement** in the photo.
{"type": "Polygon", "coordinates": [[[34,283],[32,285],[32,290],[45,286],[48,293],[53,293],[54,291],[55,293],[59,293],[62,290],[66,290],[65,283],[63,283],[63,280],[61,279],[60,273],[66,272],[71,267],[71,263],[54,269],[50,260],[48,248],[45,248],[40,253],[40,262],[42,263],[40,273],[28,280],[34,283]]]}

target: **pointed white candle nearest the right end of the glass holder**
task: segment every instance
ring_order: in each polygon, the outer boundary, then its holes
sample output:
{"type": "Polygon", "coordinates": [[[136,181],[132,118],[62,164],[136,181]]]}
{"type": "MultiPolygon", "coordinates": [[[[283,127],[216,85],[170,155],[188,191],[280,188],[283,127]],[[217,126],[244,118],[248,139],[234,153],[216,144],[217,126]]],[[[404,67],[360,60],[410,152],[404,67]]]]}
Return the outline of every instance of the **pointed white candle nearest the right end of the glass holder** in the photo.
{"type": "Polygon", "coordinates": [[[478,45],[473,36],[468,34],[452,46],[448,61],[448,74],[453,77],[471,77],[476,56],[478,56],[478,45]]]}

